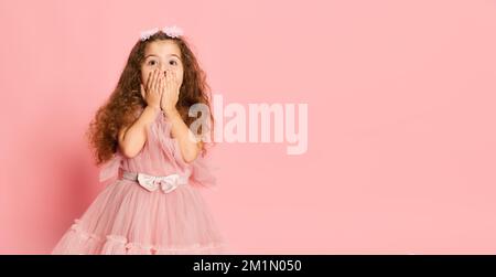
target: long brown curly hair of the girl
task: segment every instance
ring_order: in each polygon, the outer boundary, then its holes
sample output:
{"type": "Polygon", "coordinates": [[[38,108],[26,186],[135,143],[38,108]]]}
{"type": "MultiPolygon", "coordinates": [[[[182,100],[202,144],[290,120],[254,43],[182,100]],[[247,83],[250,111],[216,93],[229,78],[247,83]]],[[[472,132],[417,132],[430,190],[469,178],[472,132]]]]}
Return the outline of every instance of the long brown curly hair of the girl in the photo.
{"type": "MultiPolygon", "coordinates": [[[[188,116],[192,105],[201,103],[211,108],[211,92],[205,72],[200,67],[184,36],[171,38],[159,31],[145,41],[138,40],[129,54],[116,88],[108,100],[98,108],[86,131],[97,166],[114,157],[118,148],[119,129],[134,122],[147,106],[140,92],[141,64],[144,61],[145,46],[157,40],[172,40],[181,50],[184,76],[176,108],[184,122],[190,126],[196,119],[188,116]]],[[[209,127],[212,138],[214,129],[212,113],[209,113],[208,120],[206,126],[209,127]]],[[[200,131],[202,131],[201,128],[200,131]]],[[[211,141],[213,140],[211,139],[211,141]]],[[[202,156],[206,155],[206,143],[202,145],[202,156]]]]}

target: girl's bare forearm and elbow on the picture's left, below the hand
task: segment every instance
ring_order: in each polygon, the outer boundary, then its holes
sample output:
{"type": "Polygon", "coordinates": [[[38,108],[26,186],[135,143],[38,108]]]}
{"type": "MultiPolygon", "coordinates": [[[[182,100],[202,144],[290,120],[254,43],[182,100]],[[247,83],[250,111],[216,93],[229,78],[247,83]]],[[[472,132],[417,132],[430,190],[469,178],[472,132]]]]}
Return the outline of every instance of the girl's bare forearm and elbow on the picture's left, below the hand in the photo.
{"type": "Polygon", "coordinates": [[[120,151],[127,158],[136,157],[147,142],[147,128],[153,122],[160,108],[147,106],[140,117],[130,126],[119,130],[118,142],[120,151]]]}

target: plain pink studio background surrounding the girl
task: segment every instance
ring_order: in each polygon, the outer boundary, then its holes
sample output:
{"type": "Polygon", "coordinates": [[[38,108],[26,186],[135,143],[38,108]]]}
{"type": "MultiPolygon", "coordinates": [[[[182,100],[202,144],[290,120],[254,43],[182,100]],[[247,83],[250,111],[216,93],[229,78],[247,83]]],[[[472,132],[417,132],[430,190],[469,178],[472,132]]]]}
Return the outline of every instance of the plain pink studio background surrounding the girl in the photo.
{"type": "Polygon", "coordinates": [[[141,30],[182,26],[225,104],[308,103],[309,149],[219,143],[233,252],[496,253],[496,1],[0,1],[0,253],[103,189],[84,131],[141,30]]]}

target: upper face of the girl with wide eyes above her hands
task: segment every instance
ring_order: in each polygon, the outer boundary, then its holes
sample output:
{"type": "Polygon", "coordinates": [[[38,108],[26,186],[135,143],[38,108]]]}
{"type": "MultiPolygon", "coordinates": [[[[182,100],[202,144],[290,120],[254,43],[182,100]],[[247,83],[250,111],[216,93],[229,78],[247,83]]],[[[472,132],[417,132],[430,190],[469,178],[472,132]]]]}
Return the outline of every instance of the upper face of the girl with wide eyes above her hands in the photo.
{"type": "Polygon", "coordinates": [[[150,72],[159,68],[163,74],[166,70],[174,71],[177,81],[183,83],[183,62],[181,50],[172,40],[159,40],[148,43],[144,49],[144,61],[141,64],[141,82],[145,85],[150,72]]]}

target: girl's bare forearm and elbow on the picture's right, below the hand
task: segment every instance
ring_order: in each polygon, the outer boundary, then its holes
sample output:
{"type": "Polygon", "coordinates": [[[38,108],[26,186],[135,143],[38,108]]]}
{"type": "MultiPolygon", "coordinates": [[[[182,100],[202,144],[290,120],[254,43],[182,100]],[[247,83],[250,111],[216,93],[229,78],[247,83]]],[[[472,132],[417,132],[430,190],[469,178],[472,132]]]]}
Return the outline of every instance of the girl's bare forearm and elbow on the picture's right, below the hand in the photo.
{"type": "Polygon", "coordinates": [[[193,132],[183,121],[180,113],[175,108],[164,111],[172,124],[171,134],[177,139],[183,160],[187,163],[194,161],[202,149],[202,141],[196,142],[192,139],[194,137],[193,132]]]}

